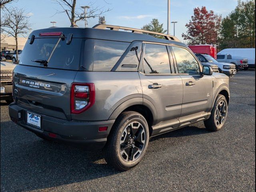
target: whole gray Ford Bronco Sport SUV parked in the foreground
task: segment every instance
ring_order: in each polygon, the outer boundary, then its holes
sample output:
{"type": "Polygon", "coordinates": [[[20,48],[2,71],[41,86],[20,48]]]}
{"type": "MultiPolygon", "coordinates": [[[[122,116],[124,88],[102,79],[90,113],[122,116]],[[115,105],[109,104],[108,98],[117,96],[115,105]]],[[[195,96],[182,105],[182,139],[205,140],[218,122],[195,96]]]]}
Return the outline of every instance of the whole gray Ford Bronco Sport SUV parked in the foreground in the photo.
{"type": "Polygon", "coordinates": [[[200,121],[220,130],[230,98],[228,76],[202,67],[176,37],[101,24],[33,31],[13,95],[13,122],[46,140],[102,149],[119,170],[142,160],[150,137],[200,121]]]}

